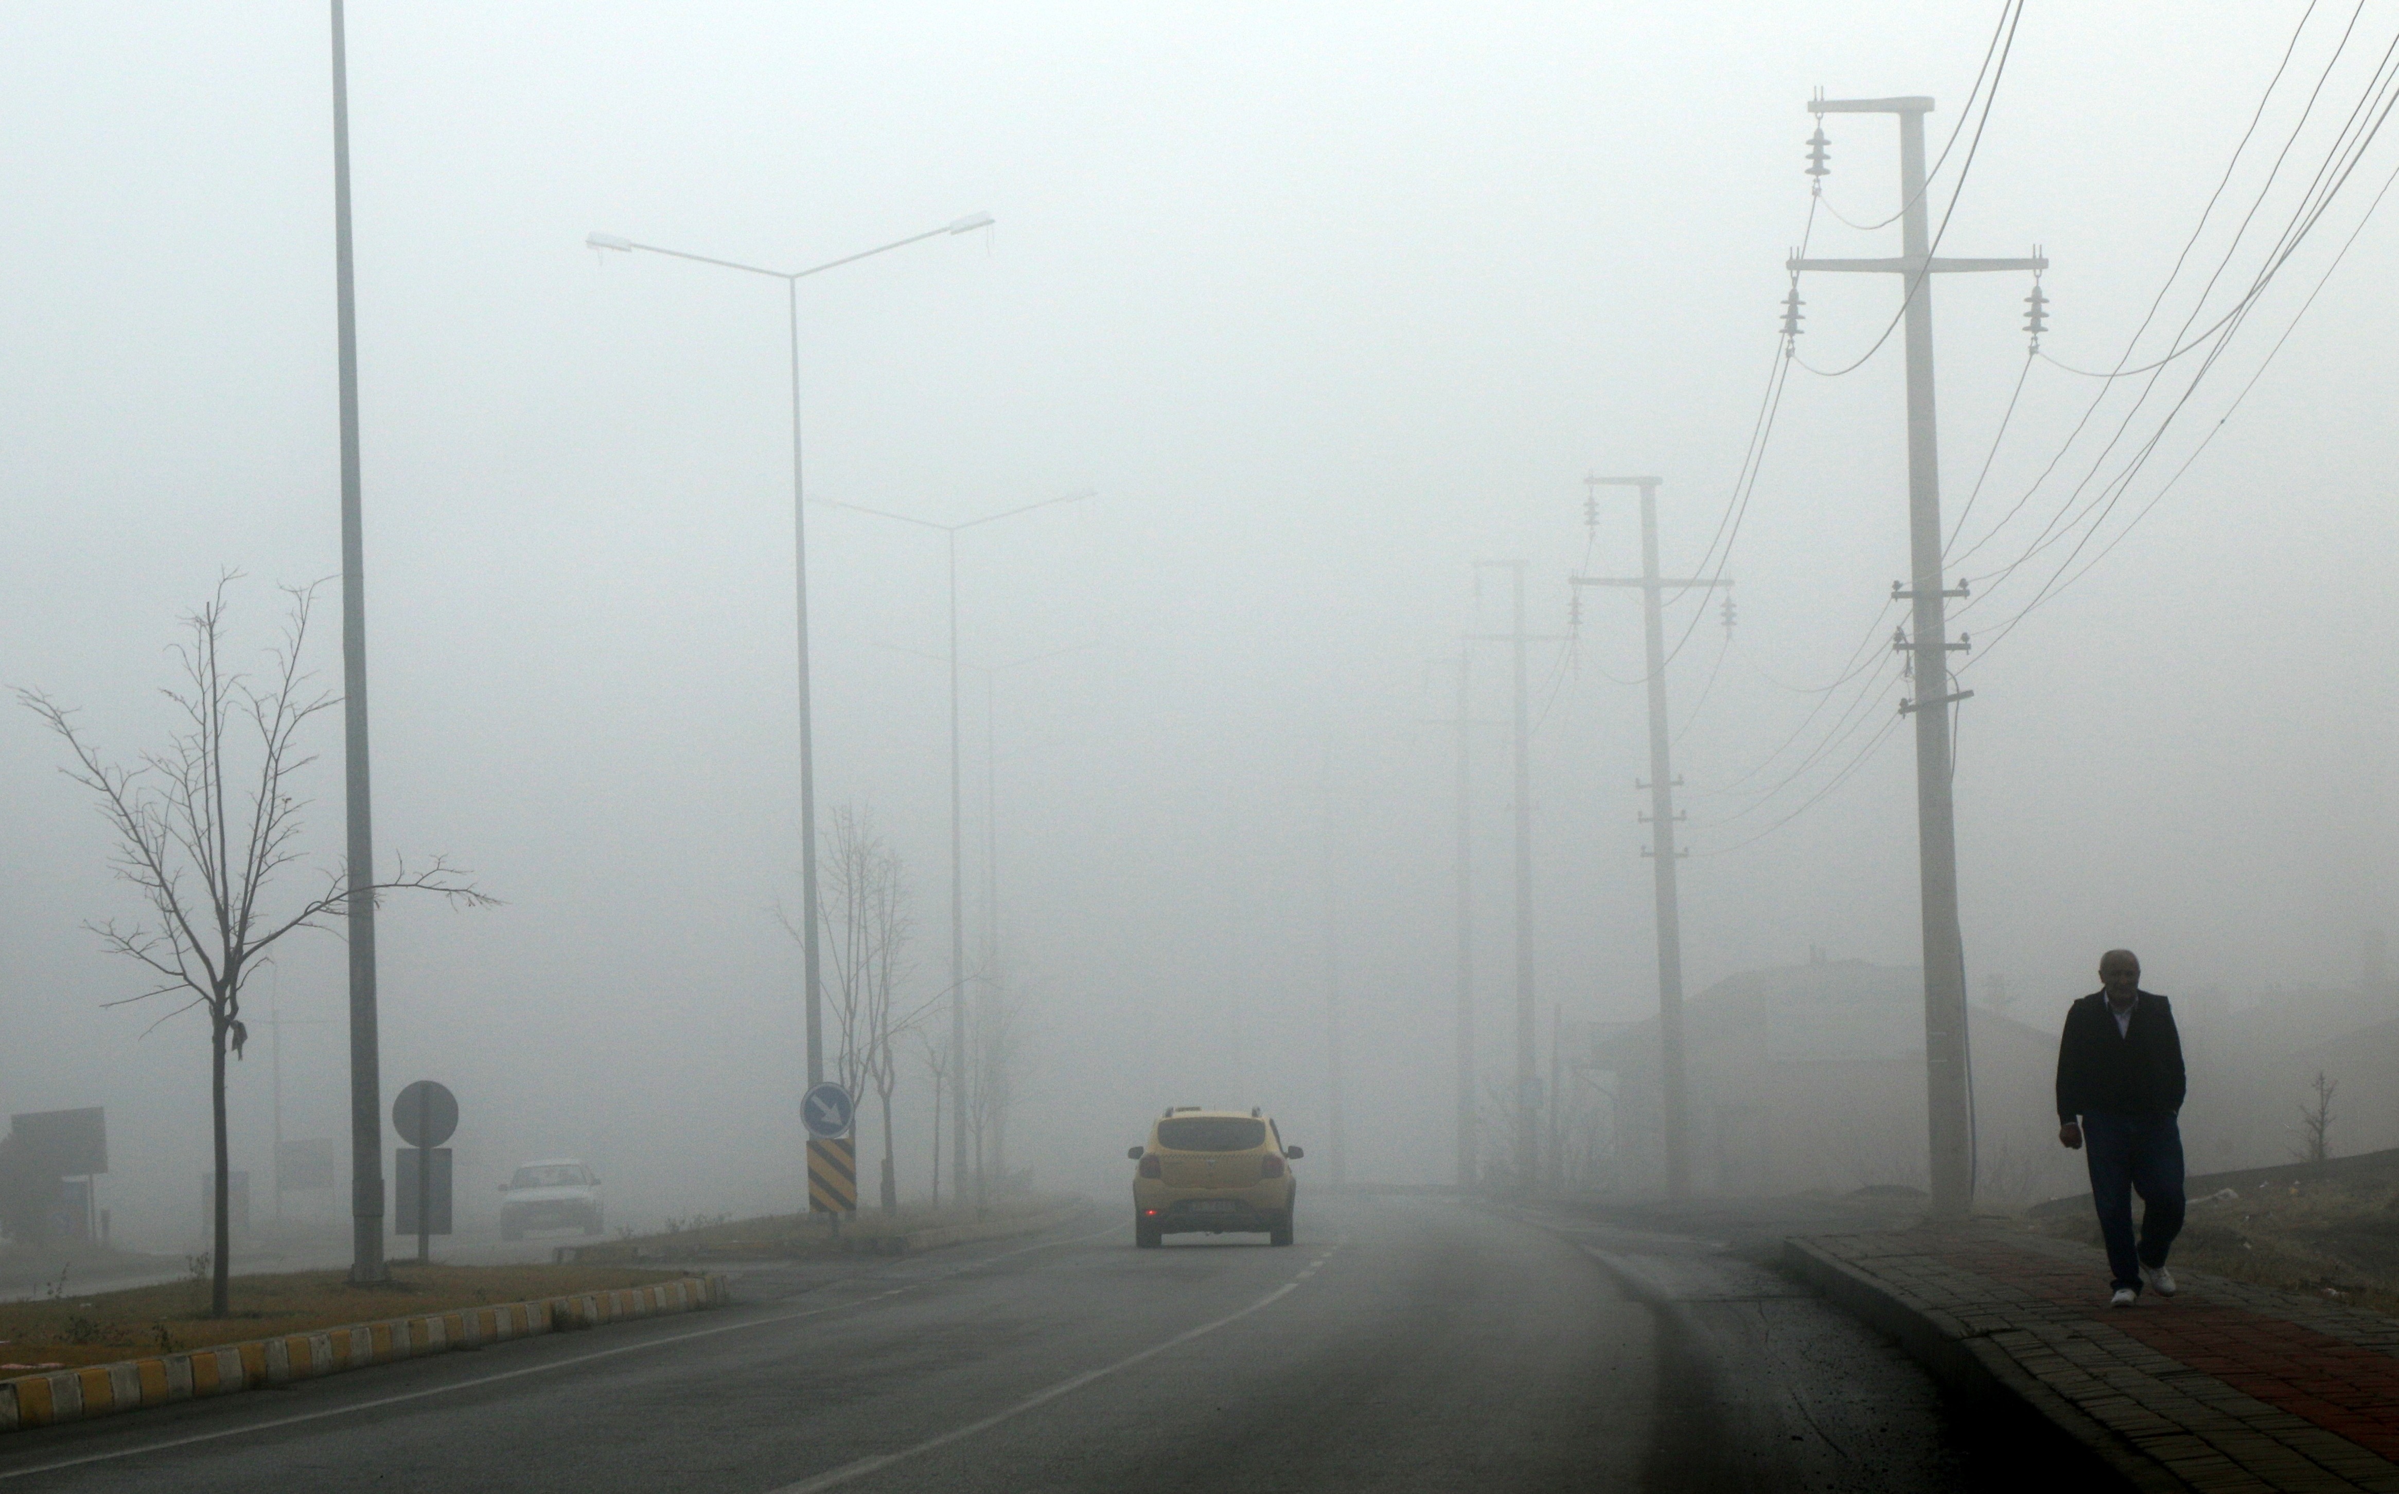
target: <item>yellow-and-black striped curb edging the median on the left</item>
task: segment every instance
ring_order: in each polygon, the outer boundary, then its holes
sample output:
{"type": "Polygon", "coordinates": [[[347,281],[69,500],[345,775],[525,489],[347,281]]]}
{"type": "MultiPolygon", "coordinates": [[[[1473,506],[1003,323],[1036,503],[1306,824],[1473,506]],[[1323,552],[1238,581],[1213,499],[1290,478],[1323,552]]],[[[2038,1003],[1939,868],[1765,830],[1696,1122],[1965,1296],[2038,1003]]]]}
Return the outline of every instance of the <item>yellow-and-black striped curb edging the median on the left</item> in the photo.
{"type": "Polygon", "coordinates": [[[600,1324],[667,1312],[696,1312],[701,1307],[720,1307],[722,1302],[722,1276],[686,1276],[684,1281],[645,1288],[463,1307],[458,1312],[345,1324],[312,1333],[194,1348],[180,1355],[0,1379],[0,1434],[29,1432],[55,1422],[89,1422],[173,1400],[261,1391],[295,1379],[393,1365],[446,1350],[482,1348],[509,1338],[597,1329],[600,1324]]]}

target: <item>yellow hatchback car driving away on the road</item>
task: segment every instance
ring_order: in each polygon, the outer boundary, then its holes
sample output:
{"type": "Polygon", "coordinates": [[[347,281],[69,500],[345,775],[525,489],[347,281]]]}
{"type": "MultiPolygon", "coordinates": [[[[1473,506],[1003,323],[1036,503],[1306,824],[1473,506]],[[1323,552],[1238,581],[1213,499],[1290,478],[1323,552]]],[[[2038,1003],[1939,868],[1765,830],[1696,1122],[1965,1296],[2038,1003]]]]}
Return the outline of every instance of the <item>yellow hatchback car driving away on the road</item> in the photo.
{"type": "Polygon", "coordinates": [[[1171,1106],[1149,1122],[1149,1146],[1125,1151],[1132,1170],[1132,1242],[1156,1249],[1166,1235],[1267,1235],[1291,1245],[1300,1180],[1274,1118],[1250,1110],[1171,1106]]]}

